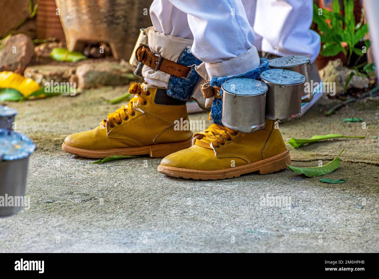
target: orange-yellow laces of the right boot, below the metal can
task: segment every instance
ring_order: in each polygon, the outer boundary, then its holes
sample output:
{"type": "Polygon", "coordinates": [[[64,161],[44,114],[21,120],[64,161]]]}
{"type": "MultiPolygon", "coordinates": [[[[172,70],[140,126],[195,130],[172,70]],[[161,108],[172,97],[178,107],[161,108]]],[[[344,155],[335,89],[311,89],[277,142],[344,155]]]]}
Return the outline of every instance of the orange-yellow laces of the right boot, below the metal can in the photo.
{"type": "Polygon", "coordinates": [[[208,149],[212,149],[210,145],[212,144],[214,147],[218,148],[220,145],[225,144],[225,141],[222,137],[224,137],[226,140],[232,140],[228,132],[233,136],[236,136],[238,134],[237,131],[234,131],[232,129],[226,128],[221,125],[212,124],[204,132],[199,132],[194,135],[203,135],[201,139],[196,139],[195,144],[208,149]]]}

